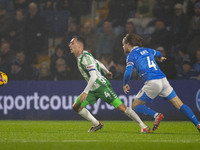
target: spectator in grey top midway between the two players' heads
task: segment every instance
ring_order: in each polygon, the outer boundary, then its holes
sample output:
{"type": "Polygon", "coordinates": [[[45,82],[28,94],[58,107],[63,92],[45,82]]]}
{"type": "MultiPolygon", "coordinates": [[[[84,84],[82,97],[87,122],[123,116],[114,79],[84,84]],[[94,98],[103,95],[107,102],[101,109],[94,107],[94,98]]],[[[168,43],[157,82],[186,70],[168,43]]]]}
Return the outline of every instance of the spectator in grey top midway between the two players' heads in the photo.
{"type": "Polygon", "coordinates": [[[112,54],[115,43],[115,34],[113,32],[112,23],[105,21],[103,24],[103,33],[99,37],[96,55],[100,58],[102,55],[112,54]]]}

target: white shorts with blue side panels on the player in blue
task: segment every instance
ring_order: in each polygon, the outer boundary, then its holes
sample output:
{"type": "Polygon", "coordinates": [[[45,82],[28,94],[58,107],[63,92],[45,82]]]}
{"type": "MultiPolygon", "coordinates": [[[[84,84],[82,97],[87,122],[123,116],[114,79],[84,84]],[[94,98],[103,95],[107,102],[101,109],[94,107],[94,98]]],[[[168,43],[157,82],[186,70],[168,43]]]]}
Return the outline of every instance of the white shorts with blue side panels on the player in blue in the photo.
{"type": "Polygon", "coordinates": [[[146,81],[145,85],[136,95],[136,98],[146,102],[152,102],[156,96],[170,100],[176,96],[175,91],[166,78],[146,81]]]}

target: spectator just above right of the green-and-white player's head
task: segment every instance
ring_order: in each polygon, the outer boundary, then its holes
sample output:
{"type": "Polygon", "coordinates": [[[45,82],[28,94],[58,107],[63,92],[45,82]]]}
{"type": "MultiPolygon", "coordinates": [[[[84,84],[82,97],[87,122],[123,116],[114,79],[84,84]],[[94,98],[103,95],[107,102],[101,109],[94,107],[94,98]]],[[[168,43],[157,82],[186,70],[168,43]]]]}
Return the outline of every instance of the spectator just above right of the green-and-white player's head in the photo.
{"type": "Polygon", "coordinates": [[[85,49],[95,55],[98,35],[94,32],[91,22],[87,21],[83,24],[81,36],[85,40],[85,49]]]}

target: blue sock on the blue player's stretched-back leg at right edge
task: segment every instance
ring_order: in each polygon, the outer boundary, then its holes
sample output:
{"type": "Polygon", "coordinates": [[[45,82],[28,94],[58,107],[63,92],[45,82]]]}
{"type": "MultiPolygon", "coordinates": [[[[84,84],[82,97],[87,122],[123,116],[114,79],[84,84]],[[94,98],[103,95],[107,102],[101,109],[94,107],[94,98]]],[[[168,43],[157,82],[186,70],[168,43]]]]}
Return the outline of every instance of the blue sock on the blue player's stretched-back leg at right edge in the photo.
{"type": "Polygon", "coordinates": [[[193,124],[195,126],[197,126],[199,124],[199,121],[197,120],[197,118],[195,117],[194,113],[192,112],[192,110],[185,104],[183,104],[180,108],[180,111],[188,118],[190,119],[193,124]]]}

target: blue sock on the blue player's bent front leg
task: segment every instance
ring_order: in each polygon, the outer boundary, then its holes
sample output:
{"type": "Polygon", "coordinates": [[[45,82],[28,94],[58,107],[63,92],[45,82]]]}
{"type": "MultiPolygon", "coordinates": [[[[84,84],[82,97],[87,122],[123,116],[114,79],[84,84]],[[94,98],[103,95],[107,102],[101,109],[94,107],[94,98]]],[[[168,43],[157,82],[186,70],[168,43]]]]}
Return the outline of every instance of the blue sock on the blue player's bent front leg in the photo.
{"type": "Polygon", "coordinates": [[[138,105],[135,107],[135,111],[137,113],[141,113],[141,114],[145,114],[145,115],[149,115],[151,117],[154,118],[154,115],[157,113],[154,110],[150,109],[149,107],[145,106],[145,105],[138,105]]]}

